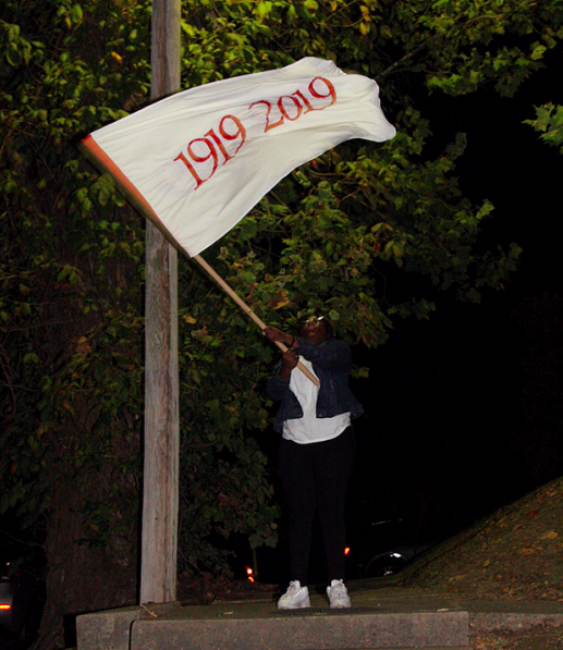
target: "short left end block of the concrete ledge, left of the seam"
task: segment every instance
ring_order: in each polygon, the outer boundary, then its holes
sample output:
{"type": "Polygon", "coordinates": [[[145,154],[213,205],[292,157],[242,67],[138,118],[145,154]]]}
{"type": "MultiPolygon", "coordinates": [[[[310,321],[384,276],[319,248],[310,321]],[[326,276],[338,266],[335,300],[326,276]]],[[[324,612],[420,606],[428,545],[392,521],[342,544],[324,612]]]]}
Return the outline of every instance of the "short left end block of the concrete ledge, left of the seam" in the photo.
{"type": "Polygon", "coordinates": [[[179,602],[149,604],[81,614],[76,617],[79,650],[130,650],[131,625],[134,621],[156,618],[180,608],[179,602]]]}

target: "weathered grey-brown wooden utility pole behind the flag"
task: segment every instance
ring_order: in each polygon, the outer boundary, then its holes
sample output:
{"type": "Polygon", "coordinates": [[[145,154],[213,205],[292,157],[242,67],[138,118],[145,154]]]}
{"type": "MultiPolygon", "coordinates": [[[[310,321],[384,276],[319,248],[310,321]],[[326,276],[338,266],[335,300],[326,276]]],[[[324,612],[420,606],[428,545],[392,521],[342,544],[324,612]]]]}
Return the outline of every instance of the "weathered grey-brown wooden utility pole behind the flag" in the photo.
{"type": "MultiPolygon", "coordinates": [[[[150,96],[180,90],[181,0],[152,0],[150,96]]],[[[178,253],[147,221],[142,604],[176,599],[179,511],[178,253]]]]}

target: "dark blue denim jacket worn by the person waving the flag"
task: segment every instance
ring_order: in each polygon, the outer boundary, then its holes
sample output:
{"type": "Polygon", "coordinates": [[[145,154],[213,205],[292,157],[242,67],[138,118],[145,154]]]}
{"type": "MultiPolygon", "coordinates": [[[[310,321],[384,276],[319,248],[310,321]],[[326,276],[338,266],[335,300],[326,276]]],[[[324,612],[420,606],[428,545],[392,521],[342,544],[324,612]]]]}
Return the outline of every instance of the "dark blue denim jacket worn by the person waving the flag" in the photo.
{"type": "MultiPolygon", "coordinates": [[[[352,353],[344,342],[331,339],[317,345],[297,338],[297,346],[294,347],[294,351],[313,364],[315,375],[319,378],[318,418],[350,413],[351,419],[354,419],[364,413],[362,404],[348,388],[352,353]]],[[[303,417],[303,408],[295,394],[290,390],[290,380],[283,381],[279,378],[280,368],[281,363],[278,364],[268,380],[267,388],[270,397],[281,402],[273,424],[276,431],[281,433],[285,420],[303,417]]]]}

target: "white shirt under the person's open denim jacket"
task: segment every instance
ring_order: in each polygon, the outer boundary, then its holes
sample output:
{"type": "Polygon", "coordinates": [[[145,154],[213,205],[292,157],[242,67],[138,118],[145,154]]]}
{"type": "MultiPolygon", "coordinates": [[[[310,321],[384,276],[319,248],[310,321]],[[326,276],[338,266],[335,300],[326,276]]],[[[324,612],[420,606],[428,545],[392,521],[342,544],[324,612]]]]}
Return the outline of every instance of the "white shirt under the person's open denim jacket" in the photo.
{"type": "MultiPolygon", "coordinates": [[[[315,375],[313,364],[299,356],[299,361],[315,375]]],[[[317,377],[318,379],[318,377],[317,377]]],[[[297,397],[303,408],[303,417],[283,422],[282,438],[298,444],[323,442],[338,438],[350,426],[350,413],[334,417],[317,417],[317,397],[319,388],[307,379],[301,370],[294,369],[290,376],[290,390],[297,397]]]]}

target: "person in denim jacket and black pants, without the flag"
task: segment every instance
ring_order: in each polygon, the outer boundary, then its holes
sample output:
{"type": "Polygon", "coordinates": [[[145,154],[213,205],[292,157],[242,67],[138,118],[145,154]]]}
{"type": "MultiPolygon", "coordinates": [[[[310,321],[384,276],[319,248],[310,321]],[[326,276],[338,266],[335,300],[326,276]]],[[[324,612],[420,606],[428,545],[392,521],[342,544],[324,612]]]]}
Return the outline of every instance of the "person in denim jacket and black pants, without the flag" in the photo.
{"type": "Polygon", "coordinates": [[[344,504],[355,454],[351,420],[364,413],[348,388],[352,354],[334,339],[323,317],[302,322],[297,336],[273,327],[265,328],[264,335],[287,346],[267,387],[269,395],[281,402],[274,429],[282,434],[280,474],[290,519],[291,582],[278,608],[310,606],[308,564],[315,514],[327,555],[330,606],[350,608],[344,584],[344,504]],[[296,370],[299,360],[320,385],[296,370]]]}

